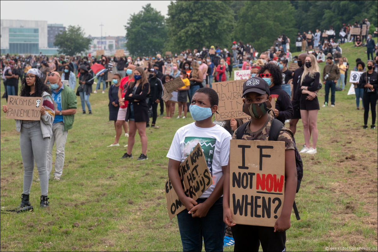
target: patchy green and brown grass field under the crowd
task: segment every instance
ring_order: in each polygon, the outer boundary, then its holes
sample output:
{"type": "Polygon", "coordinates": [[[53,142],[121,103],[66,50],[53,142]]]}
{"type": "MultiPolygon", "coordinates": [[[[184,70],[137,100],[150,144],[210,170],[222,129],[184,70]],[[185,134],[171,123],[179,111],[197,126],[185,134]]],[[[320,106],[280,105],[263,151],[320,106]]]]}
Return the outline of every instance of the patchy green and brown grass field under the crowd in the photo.
{"type": "MultiPolygon", "coordinates": [[[[348,43],[342,49],[351,69],[357,57],[366,62],[364,48],[348,43]]],[[[345,91],[336,92],[336,107],[319,111],[318,154],[302,155],[304,178],[296,195],[301,220],[295,220],[294,214],[291,217],[287,250],[377,249],[378,135],[370,127],[363,130],[364,112],[355,110],[354,95],[347,96],[349,85],[345,91]]],[[[50,206],[38,207],[40,186],[33,182],[30,201],[34,212],[1,213],[0,249],[181,251],[177,220],[169,221],[163,189],[166,154],[175,131],[193,122],[190,114],[186,119],[158,117],[156,125],[160,128],[147,129],[149,159],[136,160],[141,153],[137,136],[134,158],[124,160],[119,158],[125,148],[107,148],[115,136],[113,122],[108,121],[107,93],[91,94],[90,102],[92,115],[82,114],[78,102],[65,147],[62,181],[50,181],[50,206]]],[[[324,102],[324,89],[319,92],[319,102],[324,102]]],[[[1,99],[1,105],[5,105],[5,99],[1,99]]],[[[0,122],[0,203],[5,209],[13,209],[20,204],[23,182],[19,133],[4,113],[0,122]]],[[[302,146],[301,121],[295,137],[297,145],[302,146]]],[[[126,143],[127,138],[122,136],[120,145],[126,143]]],[[[225,250],[232,251],[233,247],[225,250]]]]}

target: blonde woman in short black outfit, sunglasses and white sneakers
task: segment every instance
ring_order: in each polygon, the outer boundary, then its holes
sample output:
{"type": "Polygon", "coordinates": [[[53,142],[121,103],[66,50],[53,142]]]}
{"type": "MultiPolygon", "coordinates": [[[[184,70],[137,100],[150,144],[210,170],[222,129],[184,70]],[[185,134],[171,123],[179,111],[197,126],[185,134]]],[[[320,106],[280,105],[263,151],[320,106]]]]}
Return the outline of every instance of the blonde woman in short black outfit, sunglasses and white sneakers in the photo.
{"type": "Polygon", "coordinates": [[[319,101],[318,89],[320,82],[320,71],[316,57],[309,54],[305,58],[304,71],[301,77],[301,99],[299,108],[303,122],[303,135],[305,147],[299,153],[315,154],[316,142],[318,141],[318,128],[316,119],[318,117],[319,101]],[[310,145],[310,128],[312,145],[310,145]]]}

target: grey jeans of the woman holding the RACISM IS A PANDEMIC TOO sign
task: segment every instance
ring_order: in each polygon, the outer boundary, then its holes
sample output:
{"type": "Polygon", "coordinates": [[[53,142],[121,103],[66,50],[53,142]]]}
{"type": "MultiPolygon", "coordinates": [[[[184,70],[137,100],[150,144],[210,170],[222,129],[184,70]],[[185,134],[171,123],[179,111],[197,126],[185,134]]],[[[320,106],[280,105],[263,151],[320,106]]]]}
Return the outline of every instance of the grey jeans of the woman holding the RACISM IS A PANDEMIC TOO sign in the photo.
{"type": "Polygon", "coordinates": [[[46,154],[50,138],[42,138],[39,121],[30,123],[22,122],[20,132],[20,149],[24,167],[23,194],[30,194],[33,182],[34,161],[37,165],[41,195],[48,193],[48,171],[46,166],[46,154]]]}

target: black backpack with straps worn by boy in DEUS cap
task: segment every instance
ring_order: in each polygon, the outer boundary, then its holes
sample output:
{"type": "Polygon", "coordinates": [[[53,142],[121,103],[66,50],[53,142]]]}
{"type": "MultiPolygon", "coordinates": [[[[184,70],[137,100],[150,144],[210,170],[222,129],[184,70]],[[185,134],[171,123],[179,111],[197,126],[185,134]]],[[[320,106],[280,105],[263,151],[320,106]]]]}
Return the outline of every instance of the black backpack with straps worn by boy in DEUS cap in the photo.
{"type": "MultiPolygon", "coordinates": [[[[244,132],[245,132],[245,129],[247,127],[247,124],[249,122],[250,121],[246,122],[245,124],[243,124],[242,126],[237,128],[237,131],[236,131],[236,138],[237,139],[242,139],[244,132]]],[[[282,127],[283,127],[283,123],[281,121],[273,118],[272,124],[270,126],[268,141],[277,141],[282,127]]],[[[302,181],[302,177],[303,177],[303,163],[302,163],[301,155],[299,155],[299,152],[297,150],[297,146],[295,144],[294,136],[293,136],[293,142],[294,142],[294,153],[295,153],[295,165],[296,165],[296,168],[297,168],[297,179],[298,179],[297,191],[296,192],[298,192],[299,187],[301,187],[301,181],[302,181]]],[[[295,204],[295,201],[293,203],[293,209],[294,209],[295,217],[297,218],[297,220],[301,220],[301,218],[299,217],[299,213],[298,213],[298,209],[297,209],[297,206],[295,204]]]]}

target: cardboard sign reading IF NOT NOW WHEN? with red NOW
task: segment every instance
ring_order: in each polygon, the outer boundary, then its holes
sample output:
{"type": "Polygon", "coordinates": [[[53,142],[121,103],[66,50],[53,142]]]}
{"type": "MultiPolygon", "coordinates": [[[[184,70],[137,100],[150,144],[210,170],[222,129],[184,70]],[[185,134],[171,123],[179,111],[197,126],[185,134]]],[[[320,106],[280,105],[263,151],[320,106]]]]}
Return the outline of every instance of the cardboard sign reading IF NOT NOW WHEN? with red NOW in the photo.
{"type": "Polygon", "coordinates": [[[285,196],[285,142],[231,140],[230,209],[236,224],[274,227],[285,196]]]}

